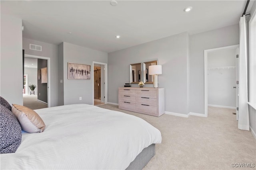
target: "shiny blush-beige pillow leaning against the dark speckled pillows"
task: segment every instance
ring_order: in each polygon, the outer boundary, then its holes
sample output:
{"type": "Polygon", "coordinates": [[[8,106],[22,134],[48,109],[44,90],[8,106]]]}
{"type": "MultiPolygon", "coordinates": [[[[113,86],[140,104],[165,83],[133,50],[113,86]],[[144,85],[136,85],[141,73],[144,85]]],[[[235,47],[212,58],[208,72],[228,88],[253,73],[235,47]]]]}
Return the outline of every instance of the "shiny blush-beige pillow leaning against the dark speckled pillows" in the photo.
{"type": "Polygon", "coordinates": [[[12,113],[16,115],[22,130],[28,133],[38,133],[44,131],[44,121],[34,110],[25,106],[12,104],[12,113]]]}

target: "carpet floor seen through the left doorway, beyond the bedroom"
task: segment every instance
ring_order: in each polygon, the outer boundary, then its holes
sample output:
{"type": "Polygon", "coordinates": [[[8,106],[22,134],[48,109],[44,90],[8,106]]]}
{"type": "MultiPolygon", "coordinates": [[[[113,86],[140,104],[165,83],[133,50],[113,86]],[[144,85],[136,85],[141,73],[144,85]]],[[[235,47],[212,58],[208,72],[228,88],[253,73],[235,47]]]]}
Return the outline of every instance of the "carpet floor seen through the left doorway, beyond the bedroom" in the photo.
{"type": "Polygon", "coordinates": [[[48,107],[46,103],[37,100],[37,95],[24,95],[23,106],[33,110],[48,107]]]}

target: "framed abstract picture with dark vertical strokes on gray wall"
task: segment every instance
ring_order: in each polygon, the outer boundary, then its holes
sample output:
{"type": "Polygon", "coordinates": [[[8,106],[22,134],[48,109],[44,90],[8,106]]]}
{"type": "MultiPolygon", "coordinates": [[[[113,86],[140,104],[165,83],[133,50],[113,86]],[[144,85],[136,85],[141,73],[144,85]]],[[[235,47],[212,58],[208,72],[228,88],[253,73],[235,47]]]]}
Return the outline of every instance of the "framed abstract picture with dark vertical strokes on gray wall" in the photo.
{"type": "Polygon", "coordinates": [[[90,80],[91,66],[68,62],[68,79],[90,80]]]}

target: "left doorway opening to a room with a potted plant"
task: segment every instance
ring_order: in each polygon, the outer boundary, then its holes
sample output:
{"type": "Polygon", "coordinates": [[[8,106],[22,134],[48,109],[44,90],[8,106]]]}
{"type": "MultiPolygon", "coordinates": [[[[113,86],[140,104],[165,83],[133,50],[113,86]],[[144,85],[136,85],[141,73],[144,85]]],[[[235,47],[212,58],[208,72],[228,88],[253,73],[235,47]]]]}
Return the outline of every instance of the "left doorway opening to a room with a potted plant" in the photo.
{"type": "Polygon", "coordinates": [[[50,58],[25,54],[24,61],[24,71],[28,74],[27,84],[34,84],[36,88],[32,93],[28,88],[23,105],[31,109],[50,107],[50,58]]]}

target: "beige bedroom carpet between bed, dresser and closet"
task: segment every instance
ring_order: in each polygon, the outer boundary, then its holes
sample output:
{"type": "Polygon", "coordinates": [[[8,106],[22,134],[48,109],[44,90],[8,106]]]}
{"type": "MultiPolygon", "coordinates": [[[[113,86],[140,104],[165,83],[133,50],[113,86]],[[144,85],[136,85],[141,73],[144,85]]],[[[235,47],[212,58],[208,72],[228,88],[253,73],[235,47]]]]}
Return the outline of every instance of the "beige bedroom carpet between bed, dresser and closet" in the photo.
{"type": "Polygon", "coordinates": [[[234,109],[208,107],[208,117],[186,118],[154,117],[111,104],[98,107],[135,115],[160,130],[162,143],[144,170],[256,169],[256,140],[250,131],[238,129],[234,109]]]}

